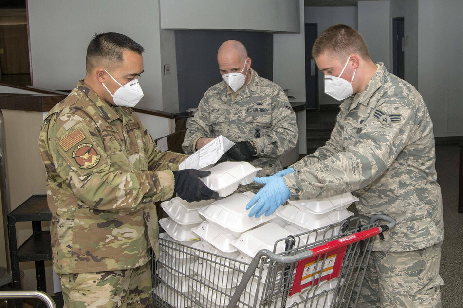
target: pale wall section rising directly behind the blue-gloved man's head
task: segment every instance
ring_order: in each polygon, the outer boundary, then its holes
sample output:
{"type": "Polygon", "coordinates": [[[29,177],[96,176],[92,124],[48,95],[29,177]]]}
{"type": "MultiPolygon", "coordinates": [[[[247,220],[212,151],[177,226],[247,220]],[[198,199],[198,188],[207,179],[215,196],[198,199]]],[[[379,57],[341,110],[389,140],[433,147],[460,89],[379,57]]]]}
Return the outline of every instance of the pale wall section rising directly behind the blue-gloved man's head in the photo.
{"type": "Polygon", "coordinates": [[[387,1],[358,1],[358,32],[367,42],[373,62],[383,62],[390,68],[390,13],[387,1]]]}

